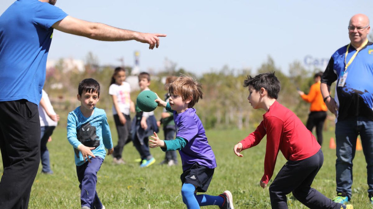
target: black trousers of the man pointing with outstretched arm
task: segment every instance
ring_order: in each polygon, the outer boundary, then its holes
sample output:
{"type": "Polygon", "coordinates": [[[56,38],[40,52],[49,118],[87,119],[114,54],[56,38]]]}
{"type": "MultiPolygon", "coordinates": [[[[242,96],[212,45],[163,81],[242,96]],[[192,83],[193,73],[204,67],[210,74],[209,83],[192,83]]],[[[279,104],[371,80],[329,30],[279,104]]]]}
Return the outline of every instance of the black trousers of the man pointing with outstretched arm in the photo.
{"type": "Polygon", "coordinates": [[[0,149],[3,176],[0,208],[28,208],[40,163],[38,106],[27,100],[0,102],[0,149]]]}

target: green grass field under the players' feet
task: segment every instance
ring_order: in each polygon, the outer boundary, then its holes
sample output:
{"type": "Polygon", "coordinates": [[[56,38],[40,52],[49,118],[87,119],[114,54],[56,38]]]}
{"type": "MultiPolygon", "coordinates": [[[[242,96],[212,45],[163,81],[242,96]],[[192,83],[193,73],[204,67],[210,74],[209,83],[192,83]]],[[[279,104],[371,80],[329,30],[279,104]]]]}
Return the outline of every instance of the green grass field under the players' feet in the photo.
{"type": "MultiPolygon", "coordinates": [[[[243,158],[238,158],[233,153],[236,142],[247,136],[250,131],[208,130],[206,132],[217,161],[217,168],[207,194],[218,195],[224,190],[230,190],[237,209],[270,208],[268,187],[262,189],[259,186],[263,175],[266,140],[263,139],[257,147],[243,151],[243,158]]],[[[115,128],[112,129],[112,135],[113,143],[116,144],[115,128]]],[[[330,198],[335,196],[335,149],[328,147],[332,136],[334,137],[333,132],[324,133],[325,142],[322,148],[325,157],[324,165],[313,183],[314,188],[330,198]]],[[[53,141],[48,143],[48,149],[54,174],[41,174],[40,165],[32,187],[29,208],[80,208],[80,190],[73,149],[66,139],[65,127],[62,125],[57,127],[52,138],[53,141]]],[[[180,194],[181,164],[173,167],[158,165],[164,158],[164,152],[160,148],[151,149],[157,161],[148,168],[140,168],[138,163],[134,162],[139,155],[132,143],[126,145],[123,153],[127,164],[114,165],[112,156],[108,156],[98,172],[97,192],[107,209],[186,208],[180,194]]],[[[284,163],[285,158],[280,153],[272,180],[284,163]]],[[[362,151],[357,151],[353,171],[351,203],[355,209],[370,208],[372,206],[366,192],[366,163],[362,151]]],[[[0,173],[3,173],[2,164],[0,173]]],[[[294,199],[292,194],[288,195],[288,206],[294,209],[306,208],[294,199]]],[[[204,208],[217,208],[217,206],[204,208]]]]}

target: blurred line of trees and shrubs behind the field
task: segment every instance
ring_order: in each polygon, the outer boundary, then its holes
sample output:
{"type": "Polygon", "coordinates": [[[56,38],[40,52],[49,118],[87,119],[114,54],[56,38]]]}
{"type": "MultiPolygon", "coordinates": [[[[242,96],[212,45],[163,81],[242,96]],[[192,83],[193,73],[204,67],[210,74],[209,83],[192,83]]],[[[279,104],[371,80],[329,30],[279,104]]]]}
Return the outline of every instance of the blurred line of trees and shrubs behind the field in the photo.
{"type": "MultiPolygon", "coordinates": [[[[92,54],[87,57],[84,71],[77,69],[67,71],[62,60],[53,68],[47,69],[44,90],[49,94],[56,112],[61,116],[62,121],[60,124],[63,124],[68,112],[80,105],[76,95],[78,94],[78,84],[84,78],[94,78],[100,83],[101,93],[97,107],[105,109],[109,122],[112,120],[112,99],[108,91],[110,78],[116,66],[100,67],[92,54]]],[[[125,68],[129,73],[132,70],[128,66],[125,68]]],[[[171,68],[165,68],[163,71],[151,74],[150,89],[163,99],[163,95],[166,93],[162,83],[164,77],[168,75],[191,75],[202,84],[203,99],[195,105],[195,109],[197,109],[197,115],[206,129],[248,129],[256,127],[261,122],[264,111],[254,110],[250,106],[247,100],[249,93],[243,87],[243,81],[248,75],[254,76],[259,73],[273,71],[276,72],[275,74],[281,83],[278,101],[292,110],[305,123],[310,104],[301,99],[297,93],[297,87],[307,94],[314,82],[314,73],[320,71],[320,69],[307,70],[298,61],[289,64],[289,73],[287,75],[275,65],[271,57],[268,57],[267,61],[263,62],[256,71],[251,69],[230,69],[228,66],[223,66],[221,70],[211,71],[200,76],[183,68],[176,70],[176,64],[174,64],[171,68]]],[[[138,93],[140,93],[138,90],[131,93],[132,101],[136,101],[138,93]]],[[[156,118],[160,118],[161,112],[161,108],[155,110],[156,118]]],[[[329,112],[325,125],[326,129],[334,127],[333,120],[334,116],[329,112]]]]}

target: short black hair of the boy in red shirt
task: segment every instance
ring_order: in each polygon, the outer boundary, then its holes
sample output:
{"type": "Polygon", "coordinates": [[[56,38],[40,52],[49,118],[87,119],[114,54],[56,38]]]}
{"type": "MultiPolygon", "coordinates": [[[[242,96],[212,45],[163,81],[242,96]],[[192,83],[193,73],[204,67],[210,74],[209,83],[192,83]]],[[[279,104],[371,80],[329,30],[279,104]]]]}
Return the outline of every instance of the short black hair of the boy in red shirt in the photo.
{"type": "Polygon", "coordinates": [[[275,72],[261,73],[254,78],[248,75],[244,80],[244,87],[247,86],[253,86],[256,91],[260,91],[261,88],[264,88],[267,90],[268,96],[273,99],[278,98],[281,89],[280,81],[275,76],[275,72]]]}

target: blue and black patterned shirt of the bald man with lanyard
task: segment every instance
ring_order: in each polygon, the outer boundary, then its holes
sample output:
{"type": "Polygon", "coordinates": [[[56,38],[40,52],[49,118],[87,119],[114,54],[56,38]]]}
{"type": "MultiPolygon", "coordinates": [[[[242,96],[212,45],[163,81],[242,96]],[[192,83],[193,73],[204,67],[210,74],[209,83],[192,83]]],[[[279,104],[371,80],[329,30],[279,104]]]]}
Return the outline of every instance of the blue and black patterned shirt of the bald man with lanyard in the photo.
{"type": "MultiPolygon", "coordinates": [[[[338,49],[330,58],[322,83],[331,85],[336,82],[335,101],[338,108],[338,121],[363,116],[373,120],[373,43],[368,42],[347,68],[347,77],[343,86],[338,82],[345,69],[347,45],[338,49]]],[[[356,49],[351,45],[346,62],[350,61],[356,49]]]]}

